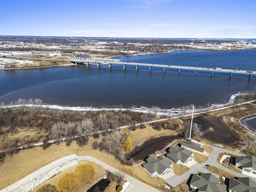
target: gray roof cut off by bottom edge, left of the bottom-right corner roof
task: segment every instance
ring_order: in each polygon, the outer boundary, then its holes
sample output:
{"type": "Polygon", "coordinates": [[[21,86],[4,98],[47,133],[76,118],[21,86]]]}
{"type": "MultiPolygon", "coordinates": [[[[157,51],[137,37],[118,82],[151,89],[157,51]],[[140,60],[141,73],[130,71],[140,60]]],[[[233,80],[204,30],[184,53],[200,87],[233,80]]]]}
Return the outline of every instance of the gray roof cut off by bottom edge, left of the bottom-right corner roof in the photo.
{"type": "Polygon", "coordinates": [[[190,185],[196,186],[198,192],[226,192],[226,185],[211,173],[193,174],[190,185]]]}

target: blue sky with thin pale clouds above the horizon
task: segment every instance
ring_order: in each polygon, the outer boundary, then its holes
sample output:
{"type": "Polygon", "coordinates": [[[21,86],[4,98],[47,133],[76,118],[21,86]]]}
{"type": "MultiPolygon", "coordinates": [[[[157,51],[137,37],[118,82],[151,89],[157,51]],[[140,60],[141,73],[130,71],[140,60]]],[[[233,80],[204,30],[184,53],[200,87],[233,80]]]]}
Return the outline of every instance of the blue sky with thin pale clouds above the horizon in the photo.
{"type": "Polygon", "coordinates": [[[256,0],[1,0],[0,35],[256,38],[256,0]]]}

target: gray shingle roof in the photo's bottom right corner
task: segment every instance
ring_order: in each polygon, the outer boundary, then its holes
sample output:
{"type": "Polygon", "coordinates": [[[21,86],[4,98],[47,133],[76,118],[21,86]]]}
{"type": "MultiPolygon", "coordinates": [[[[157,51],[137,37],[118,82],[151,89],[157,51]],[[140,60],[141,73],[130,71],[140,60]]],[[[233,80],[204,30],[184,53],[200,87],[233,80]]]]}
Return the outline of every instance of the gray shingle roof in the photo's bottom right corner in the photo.
{"type": "Polygon", "coordinates": [[[255,192],[256,182],[249,177],[230,178],[228,189],[235,192],[255,192]]]}

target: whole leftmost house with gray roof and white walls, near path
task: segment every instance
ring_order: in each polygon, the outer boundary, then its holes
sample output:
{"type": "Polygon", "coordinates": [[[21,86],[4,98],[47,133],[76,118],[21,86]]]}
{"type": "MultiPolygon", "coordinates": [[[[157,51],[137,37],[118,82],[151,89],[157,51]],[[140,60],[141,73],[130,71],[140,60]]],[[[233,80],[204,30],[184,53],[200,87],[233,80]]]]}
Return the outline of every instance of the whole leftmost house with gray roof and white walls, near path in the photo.
{"type": "Polygon", "coordinates": [[[142,165],[151,176],[163,176],[172,171],[172,163],[164,156],[156,158],[150,156],[146,159],[146,163],[142,165]]]}

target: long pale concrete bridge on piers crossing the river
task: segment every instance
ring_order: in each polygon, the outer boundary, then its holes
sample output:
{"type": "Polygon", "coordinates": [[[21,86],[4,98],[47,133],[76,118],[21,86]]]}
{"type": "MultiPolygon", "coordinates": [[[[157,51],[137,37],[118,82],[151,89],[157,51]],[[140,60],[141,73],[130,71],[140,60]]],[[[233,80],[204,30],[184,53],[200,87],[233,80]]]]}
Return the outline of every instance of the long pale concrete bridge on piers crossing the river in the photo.
{"type": "Polygon", "coordinates": [[[120,62],[120,61],[104,61],[104,60],[69,60],[69,62],[76,63],[76,64],[86,64],[89,65],[97,65],[100,67],[101,65],[107,65],[111,68],[112,64],[119,64],[123,65],[123,68],[126,69],[126,65],[133,65],[136,66],[136,70],[139,69],[139,66],[147,66],[149,70],[152,70],[152,67],[163,68],[164,72],[166,68],[171,69],[178,69],[179,73],[181,70],[193,70],[195,73],[196,71],[207,71],[211,72],[212,75],[214,72],[223,72],[228,73],[231,77],[232,74],[248,74],[249,78],[252,78],[252,74],[256,74],[256,71],[247,71],[247,70],[232,70],[232,69],[222,69],[222,68],[205,68],[205,67],[191,67],[191,66],[176,66],[176,65],[164,65],[164,64],[149,64],[149,63],[134,63],[134,62],[120,62]]]}

